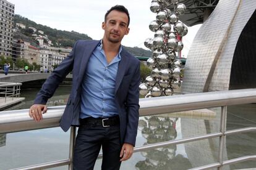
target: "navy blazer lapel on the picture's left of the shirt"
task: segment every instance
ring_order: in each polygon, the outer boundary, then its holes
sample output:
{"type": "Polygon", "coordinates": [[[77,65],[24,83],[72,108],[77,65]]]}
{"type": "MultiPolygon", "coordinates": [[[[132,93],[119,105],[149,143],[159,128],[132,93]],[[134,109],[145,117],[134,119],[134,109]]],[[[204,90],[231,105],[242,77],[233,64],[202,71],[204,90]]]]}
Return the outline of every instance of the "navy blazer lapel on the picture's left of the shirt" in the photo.
{"type": "Polygon", "coordinates": [[[83,76],[85,75],[85,69],[87,68],[88,60],[90,59],[90,56],[92,55],[92,52],[94,51],[95,47],[99,43],[100,41],[93,41],[90,44],[85,44],[84,52],[80,63],[78,84],[82,82],[83,76]]]}

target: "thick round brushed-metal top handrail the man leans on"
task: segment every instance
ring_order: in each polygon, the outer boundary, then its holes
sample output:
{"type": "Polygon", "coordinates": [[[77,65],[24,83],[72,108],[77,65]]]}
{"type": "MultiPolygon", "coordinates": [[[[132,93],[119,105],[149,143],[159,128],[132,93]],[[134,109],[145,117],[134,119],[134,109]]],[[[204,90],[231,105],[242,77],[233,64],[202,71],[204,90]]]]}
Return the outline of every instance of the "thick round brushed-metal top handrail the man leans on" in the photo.
{"type": "MultiPolygon", "coordinates": [[[[256,89],[205,92],[140,99],[139,112],[140,116],[148,116],[253,102],[256,102],[256,89]]],[[[0,134],[58,127],[64,108],[65,106],[49,107],[47,113],[43,115],[43,121],[40,121],[40,123],[36,123],[28,116],[28,109],[1,111],[0,134]]]]}

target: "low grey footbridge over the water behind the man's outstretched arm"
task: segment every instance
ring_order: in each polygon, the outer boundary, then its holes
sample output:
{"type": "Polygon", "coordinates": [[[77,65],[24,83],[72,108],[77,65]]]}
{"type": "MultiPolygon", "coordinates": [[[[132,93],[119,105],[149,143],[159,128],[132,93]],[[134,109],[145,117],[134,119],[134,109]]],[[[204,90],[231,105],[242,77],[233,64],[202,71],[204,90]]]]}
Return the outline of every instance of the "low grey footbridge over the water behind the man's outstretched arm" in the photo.
{"type": "MultiPolygon", "coordinates": [[[[9,83],[25,83],[28,81],[36,81],[40,79],[47,79],[51,73],[28,73],[28,74],[8,74],[0,75],[0,82],[9,83]]],[[[72,74],[66,76],[66,78],[72,78],[72,74]]]]}

